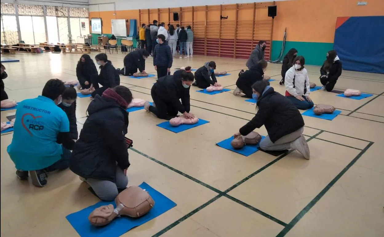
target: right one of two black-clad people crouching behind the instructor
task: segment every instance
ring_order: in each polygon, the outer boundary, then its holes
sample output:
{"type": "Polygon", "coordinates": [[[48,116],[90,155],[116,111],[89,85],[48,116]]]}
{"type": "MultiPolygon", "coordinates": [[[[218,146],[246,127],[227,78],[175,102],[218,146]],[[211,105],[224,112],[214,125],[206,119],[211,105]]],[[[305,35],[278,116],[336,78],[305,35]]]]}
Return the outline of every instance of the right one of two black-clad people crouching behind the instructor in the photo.
{"type": "Polygon", "coordinates": [[[99,53],[95,56],[96,63],[100,66],[100,75],[91,76],[91,96],[94,98],[96,94],[101,96],[103,92],[108,88],[114,88],[120,85],[120,77],[118,71],[114,68],[111,61],[108,60],[105,53],[99,53]],[[99,87],[99,84],[102,87],[99,87]]]}

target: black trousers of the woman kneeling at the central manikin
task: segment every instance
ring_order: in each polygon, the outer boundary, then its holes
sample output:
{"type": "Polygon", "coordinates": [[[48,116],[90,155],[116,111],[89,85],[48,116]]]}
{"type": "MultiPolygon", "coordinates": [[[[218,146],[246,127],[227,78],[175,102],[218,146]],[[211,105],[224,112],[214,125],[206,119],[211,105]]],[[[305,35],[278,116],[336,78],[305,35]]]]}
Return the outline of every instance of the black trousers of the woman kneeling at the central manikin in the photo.
{"type": "Polygon", "coordinates": [[[175,118],[177,113],[179,113],[170,101],[165,101],[156,94],[156,86],[152,86],[151,96],[156,107],[149,106],[149,111],[154,113],[157,118],[170,120],[171,118],[175,118]]]}

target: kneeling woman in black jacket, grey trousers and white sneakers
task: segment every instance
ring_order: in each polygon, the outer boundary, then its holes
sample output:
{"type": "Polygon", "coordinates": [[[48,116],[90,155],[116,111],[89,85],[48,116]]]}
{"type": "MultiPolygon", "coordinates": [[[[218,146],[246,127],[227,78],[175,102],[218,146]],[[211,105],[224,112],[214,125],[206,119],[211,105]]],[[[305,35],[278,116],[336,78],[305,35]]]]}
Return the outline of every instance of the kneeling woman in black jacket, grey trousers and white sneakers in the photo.
{"type": "Polygon", "coordinates": [[[285,96],[275,92],[267,81],[252,85],[257,96],[257,113],[234,137],[247,135],[255,128],[265,126],[268,136],[260,142],[265,151],[295,149],[310,159],[310,149],[304,138],[304,120],[296,106],[285,96]]]}

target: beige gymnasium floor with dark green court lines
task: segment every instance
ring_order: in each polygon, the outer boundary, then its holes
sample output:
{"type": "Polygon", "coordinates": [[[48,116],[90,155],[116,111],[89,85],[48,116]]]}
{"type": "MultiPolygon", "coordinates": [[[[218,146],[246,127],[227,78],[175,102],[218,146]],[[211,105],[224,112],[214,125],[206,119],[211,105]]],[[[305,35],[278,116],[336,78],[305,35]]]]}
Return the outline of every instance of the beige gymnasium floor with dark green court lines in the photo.
{"type": "MultiPolygon", "coordinates": [[[[91,53],[94,58],[96,53],[91,53]]],[[[41,93],[51,78],[76,80],[79,54],[15,55],[19,63],[5,63],[9,98],[21,101],[41,93]]],[[[124,54],[109,55],[116,68],[124,54]]],[[[5,56],[10,58],[11,56],[5,56]]],[[[235,89],[246,60],[194,56],[175,59],[172,68],[199,68],[216,61],[217,70],[232,75],[218,78],[235,89]]],[[[150,57],[146,71],[155,73],[150,57]]],[[[269,64],[271,86],[284,93],[280,64],[269,64]]],[[[319,83],[319,66],[307,66],[310,80],[319,83]]],[[[154,78],[121,76],[121,85],[135,98],[151,101],[154,78]]],[[[373,96],[362,100],[314,91],[314,103],[332,104],[342,111],[333,121],[303,116],[311,159],[294,151],[271,156],[258,151],[248,157],[215,143],[232,136],[252,119],[255,106],[232,91],[216,95],[191,87],[191,112],[210,123],[172,133],[159,128],[161,119],[139,110],[129,114],[127,137],[129,186],[145,181],[177,203],[154,220],[124,234],[127,237],[383,237],[384,236],[384,76],[343,71],[337,89],[354,88],[373,96]]],[[[89,98],[77,99],[80,131],[89,98]]],[[[2,111],[1,121],[15,110],[2,111]]],[[[256,130],[266,135],[264,127],[256,130]]],[[[43,188],[20,181],[6,147],[12,133],[1,136],[1,235],[78,236],[65,216],[99,200],[70,170],[48,177],[43,188]]]]}

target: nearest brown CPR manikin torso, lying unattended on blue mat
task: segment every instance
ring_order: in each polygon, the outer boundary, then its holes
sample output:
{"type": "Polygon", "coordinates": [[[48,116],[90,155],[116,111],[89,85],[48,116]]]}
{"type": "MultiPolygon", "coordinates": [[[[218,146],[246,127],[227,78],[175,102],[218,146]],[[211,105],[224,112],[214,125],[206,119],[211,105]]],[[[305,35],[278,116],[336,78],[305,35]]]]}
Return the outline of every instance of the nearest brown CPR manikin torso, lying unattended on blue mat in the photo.
{"type": "Polygon", "coordinates": [[[104,226],[116,217],[127,216],[132,218],[142,217],[155,205],[149,193],[139,186],[124,189],[115,198],[116,208],[112,204],[101,206],[93,210],[88,216],[91,225],[104,226]]]}

